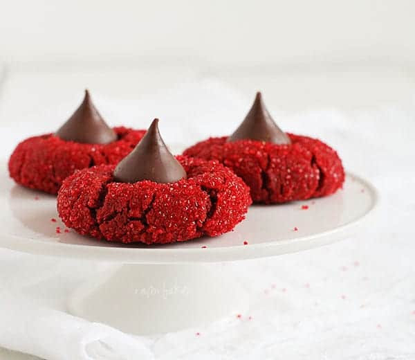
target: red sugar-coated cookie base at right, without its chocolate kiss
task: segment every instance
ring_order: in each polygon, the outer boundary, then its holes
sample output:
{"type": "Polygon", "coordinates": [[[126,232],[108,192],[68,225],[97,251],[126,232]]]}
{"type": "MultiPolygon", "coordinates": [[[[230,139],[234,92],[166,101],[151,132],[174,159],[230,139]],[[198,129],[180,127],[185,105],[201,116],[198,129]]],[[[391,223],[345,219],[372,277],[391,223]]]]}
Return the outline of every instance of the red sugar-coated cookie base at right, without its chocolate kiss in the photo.
{"type": "Polygon", "coordinates": [[[344,182],[338,154],[315,138],[288,134],[291,144],[209,138],[189,147],[183,155],[218,160],[250,187],[252,200],[278,204],[330,195],[344,182]]]}

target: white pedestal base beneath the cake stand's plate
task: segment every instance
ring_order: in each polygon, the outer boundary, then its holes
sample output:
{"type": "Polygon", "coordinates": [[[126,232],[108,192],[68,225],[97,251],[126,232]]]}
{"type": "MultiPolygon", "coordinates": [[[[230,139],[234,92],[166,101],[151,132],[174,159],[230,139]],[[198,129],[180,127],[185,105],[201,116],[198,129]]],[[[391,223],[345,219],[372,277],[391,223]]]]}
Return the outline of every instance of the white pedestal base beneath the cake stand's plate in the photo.
{"type": "Polygon", "coordinates": [[[248,296],[220,264],[127,264],[86,282],[68,309],[124,332],[156,334],[243,313],[248,296]]]}

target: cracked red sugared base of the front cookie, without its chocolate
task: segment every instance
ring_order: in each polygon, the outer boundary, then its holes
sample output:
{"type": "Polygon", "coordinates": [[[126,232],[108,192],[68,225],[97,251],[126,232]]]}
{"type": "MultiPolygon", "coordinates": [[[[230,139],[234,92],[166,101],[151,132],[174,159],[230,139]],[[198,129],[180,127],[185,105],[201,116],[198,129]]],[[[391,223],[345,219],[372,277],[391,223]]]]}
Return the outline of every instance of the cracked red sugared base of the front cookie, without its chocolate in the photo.
{"type": "Polygon", "coordinates": [[[249,188],[217,161],[177,156],[187,179],[176,183],[117,183],[115,165],[80,170],[57,196],[64,224],[113,242],[165,244],[217,236],[245,218],[249,188]]]}

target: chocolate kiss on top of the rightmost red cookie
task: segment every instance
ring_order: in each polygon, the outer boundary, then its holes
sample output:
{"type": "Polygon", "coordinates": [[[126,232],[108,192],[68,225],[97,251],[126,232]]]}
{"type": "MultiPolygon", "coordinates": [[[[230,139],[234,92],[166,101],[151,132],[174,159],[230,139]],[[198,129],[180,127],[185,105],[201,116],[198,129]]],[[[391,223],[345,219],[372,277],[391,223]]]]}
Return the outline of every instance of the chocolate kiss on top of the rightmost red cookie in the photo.
{"type": "Polygon", "coordinates": [[[267,141],[275,144],[290,144],[291,140],[279,129],[265,107],[261,93],[257,93],[255,101],[237,130],[228,137],[228,142],[251,139],[267,141]]]}

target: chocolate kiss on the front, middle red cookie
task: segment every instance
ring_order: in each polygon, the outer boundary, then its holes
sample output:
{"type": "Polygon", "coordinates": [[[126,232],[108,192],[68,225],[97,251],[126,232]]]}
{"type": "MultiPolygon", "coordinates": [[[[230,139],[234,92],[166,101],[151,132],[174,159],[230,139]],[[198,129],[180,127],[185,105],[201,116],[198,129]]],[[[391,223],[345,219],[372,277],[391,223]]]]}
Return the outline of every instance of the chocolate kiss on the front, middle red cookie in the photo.
{"type": "Polygon", "coordinates": [[[151,180],[156,183],[174,183],[186,179],[181,163],[169,152],[154,119],[136,148],[118,163],[114,179],[120,183],[151,180]]]}

